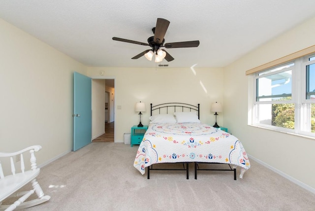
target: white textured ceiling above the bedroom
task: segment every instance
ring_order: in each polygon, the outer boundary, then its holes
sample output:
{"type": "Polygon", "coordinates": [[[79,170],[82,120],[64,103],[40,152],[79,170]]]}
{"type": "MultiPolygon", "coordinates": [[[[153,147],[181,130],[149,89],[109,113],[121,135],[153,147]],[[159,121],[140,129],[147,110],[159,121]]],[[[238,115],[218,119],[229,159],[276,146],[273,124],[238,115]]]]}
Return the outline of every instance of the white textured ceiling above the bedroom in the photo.
{"type": "MultiPolygon", "coordinates": [[[[0,0],[0,18],[89,67],[155,67],[144,56],[157,18],[170,21],[170,68],[225,67],[266,41],[315,17],[315,0],[0,0]]],[[[288,43],[289,44],[289,43],[288,43]]]]}

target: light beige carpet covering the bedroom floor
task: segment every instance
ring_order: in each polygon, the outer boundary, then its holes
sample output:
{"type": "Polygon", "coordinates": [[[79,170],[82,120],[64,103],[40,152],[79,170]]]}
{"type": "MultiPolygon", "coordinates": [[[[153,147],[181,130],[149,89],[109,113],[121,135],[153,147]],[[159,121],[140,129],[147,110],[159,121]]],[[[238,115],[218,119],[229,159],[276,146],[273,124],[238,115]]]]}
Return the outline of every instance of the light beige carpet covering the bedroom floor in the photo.
{"type": "Polygon", "coordinates": [[[41,168],[50,201],[27,211],[314,211],[315,194],[251,160],[243,179],[232,172],[153,171],[142,176],[138,146],[95,142],[41,168]]]}

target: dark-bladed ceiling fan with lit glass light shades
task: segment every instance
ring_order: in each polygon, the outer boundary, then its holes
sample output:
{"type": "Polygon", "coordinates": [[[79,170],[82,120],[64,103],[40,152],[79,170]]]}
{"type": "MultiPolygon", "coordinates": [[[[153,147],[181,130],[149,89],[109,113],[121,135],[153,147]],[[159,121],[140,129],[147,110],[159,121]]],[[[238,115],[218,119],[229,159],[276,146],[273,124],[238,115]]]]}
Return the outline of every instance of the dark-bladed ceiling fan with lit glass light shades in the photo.
{"type": "Polygon", "coordinates": [[[117,41],[122,41],[122,42],[129,42],[133,44],[138,44],[138,45],[145,45],[145,46],[150,46],[151,49],[147,49],[138,55],[132,57],[131,59],[139,59],[143,55],[148,59],[152,60],[152,57],[155,55],[155,62],[161,62],[163,58],[167,62],[173,61],[174,58],[167,53],[164,49],[160,49],[161,47],[165,48],[190,48],[190,47],[198,47],[199,45],[199,40],[194,40],[194,41],[185,41],[185,42],[169,42],[164,44],[164,35],[167,31],[169,21],[163,18],[158,18],[157,20],[157,25],[152,29],[152,32],[154,36],[150,36],[148,38],[148,43],[145,42],[138,42],[138,41],[133,41],[129,39],[123,39],[119,37],[113,37],[113,40],[117,41]]]}

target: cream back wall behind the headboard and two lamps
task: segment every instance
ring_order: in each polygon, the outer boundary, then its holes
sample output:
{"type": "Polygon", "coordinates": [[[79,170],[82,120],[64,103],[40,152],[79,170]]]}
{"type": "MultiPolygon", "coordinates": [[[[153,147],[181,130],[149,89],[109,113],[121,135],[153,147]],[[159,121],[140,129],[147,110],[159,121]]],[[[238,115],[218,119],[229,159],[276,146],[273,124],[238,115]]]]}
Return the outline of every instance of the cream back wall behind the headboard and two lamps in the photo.
{"type": "MultiPolygon", "coordinates": [[[[145,58],[143,58],[145,59],[145,58]]],[[[152,66],[155,67],[154,62],[152,66]]],[[[124,142],[124,133],[130,133],[133,125],[139,124],[138,112],[134,111],[136,102],[144,102],[147,111],[141,122],[147,125],[150,117],[150,103],[170,102],[200,104],[200,120],[213,125],[215,116],[210,112],[211,103],[223,102],[223,70],[220,68],[89,68],[88,76],[115,78],[115,142],[124,142]],[[200,85],[203,84],[205,90],[200,85]],[[122,109],[117,109],[121,106],[122,109]]],[[[223,112],[224,113],[224,112],[223,112]]],[[[222,114],[218,124],[224,125],[222,114]]]]}

